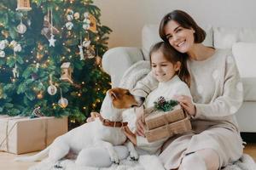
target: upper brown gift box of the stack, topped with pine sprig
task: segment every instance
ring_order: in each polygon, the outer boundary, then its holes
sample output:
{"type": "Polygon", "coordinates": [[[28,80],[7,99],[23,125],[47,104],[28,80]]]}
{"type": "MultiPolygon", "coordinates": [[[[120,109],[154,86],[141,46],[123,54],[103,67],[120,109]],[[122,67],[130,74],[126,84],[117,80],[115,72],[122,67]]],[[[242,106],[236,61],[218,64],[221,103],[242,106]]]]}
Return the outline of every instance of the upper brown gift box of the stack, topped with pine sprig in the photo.
{"type": "Polygon", "coordinates": [[[185,118],[185,114],[180,105],[173,108],[172,111],[155,111],[154,107],[144,111],[145,124],[148,130],[163,125],[177,122],[185,118]]]}

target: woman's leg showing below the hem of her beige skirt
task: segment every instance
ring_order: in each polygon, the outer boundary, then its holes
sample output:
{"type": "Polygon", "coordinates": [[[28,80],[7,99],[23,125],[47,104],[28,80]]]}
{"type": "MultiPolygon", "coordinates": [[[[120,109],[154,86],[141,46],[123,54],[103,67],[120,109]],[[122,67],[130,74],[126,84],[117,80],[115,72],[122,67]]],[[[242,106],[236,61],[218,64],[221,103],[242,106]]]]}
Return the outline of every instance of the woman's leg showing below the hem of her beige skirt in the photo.
{"type": "Polygon", "coordinates": [[[218,154],[212,149],[198,150],[183,157],[180,170],[217,170],[218,154]]]}

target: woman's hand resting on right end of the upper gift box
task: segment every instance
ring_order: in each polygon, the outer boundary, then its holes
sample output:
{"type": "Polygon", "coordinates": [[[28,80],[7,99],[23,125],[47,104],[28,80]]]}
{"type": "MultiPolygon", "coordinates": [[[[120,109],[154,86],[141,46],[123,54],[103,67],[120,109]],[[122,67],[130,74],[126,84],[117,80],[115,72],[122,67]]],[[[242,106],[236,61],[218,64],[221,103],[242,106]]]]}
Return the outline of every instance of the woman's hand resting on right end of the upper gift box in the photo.
{"type": "Polygon", "coordinates": [[[187,95],[177,95],[175,96],[175,99],[177,99],[177,101],[179,102],[179,104],[183,107],[183,109],[185,111],[187,111],[187,113],[190,116],[195,116],[195,105],[192,102],[192,99],[187,96],[187,95]]]}

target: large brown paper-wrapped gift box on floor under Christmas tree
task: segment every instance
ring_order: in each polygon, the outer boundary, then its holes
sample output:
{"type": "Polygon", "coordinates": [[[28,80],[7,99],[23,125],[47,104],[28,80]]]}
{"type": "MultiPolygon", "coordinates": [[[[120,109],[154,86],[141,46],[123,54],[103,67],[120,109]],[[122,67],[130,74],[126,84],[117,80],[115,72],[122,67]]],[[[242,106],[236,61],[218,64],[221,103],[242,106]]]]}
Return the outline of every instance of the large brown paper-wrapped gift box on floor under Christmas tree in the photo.
{"type": "Polygon", "coordinates": [[[67,133],[67,116],[0,116],[0,150],[24,154],[44,150],[61,134],[67,133]]]}

